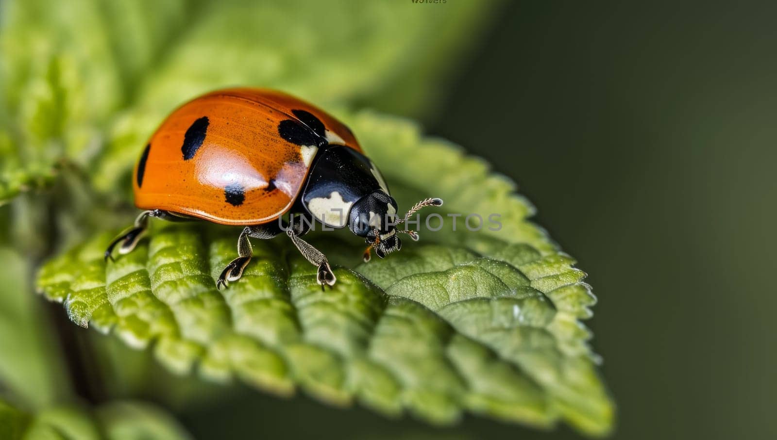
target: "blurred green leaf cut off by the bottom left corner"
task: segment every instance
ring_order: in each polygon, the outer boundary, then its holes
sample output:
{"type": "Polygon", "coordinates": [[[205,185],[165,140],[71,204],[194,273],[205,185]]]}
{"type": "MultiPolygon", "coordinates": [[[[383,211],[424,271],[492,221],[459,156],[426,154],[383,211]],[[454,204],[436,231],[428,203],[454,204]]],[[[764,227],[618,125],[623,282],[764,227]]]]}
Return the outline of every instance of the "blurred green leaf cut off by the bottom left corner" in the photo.
{"type": "Polygon", "coordinates": [[[24,414],[0,400],[0,438],[9,440],[178,440],[190,438],[172,417],[148,404],[117,401],[94,410],[68,405],[24,414]]]}

